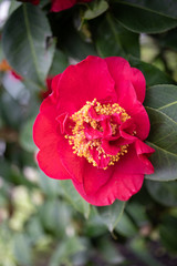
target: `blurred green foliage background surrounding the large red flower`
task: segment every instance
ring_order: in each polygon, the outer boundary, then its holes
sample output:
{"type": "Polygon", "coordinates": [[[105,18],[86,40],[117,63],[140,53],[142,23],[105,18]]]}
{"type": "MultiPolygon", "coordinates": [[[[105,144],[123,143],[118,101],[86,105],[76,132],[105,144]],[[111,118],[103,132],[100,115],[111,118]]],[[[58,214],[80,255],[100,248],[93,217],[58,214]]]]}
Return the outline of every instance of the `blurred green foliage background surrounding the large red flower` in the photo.
{"type": "Polygon", "coordinates": [[[0,265],[175,266],[177,2],[94,0],[59,13],[50,6],[0,0],[0,265]],[[52,76],[88,54],[121,55],[143,71],[156,149],[152,180],[107,207],[46,177],[32,141],[52,76]]]}

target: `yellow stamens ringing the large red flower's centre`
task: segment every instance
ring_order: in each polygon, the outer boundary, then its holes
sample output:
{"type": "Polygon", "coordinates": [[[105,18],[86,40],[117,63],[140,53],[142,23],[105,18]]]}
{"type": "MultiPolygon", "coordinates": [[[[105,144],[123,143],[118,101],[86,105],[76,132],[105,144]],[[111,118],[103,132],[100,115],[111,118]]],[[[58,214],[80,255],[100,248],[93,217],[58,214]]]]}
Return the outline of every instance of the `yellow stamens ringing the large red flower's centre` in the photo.
{"type": "MultiPolygon", "coordinates": [[[[91,115],[88,114],[88,111],[91,108],[94,109],[97,115],[119,114],[122,122],[125,122],[131,117],[125,112],[125,110],[121,108],[117,103],[101,104],[100,102],[96,101],[96,99],[94,99],[92,102],[86,102],[86,104],[80,111],[75,112],[71,116],[71,120],[75,122],[75,125],[72,129],[72,135],[65,135],[65,137],[69,139],[69,143],[70,145],[72,145],[73,153],[75,153],[80,157],[85,157],[94,166],[98,166],[98,165],[93,160],[92,154],[90,152],[93,149],[96,149],[98,154],[98,160],[101,160],[102,156],[104,158],[107,157],[110,160],[108,165],[114,165],[119,160],[121,155],[124,155],[125,153],[127,153],[128,145],[119,146],[121,151],[116,155],[111,155],[111,154],[106,154],[102,149],[101,137],[94,139],[94,140],[87,140],[84,133],[85,123],[87,123],[88,126],[93,127],[94,130],[103,132],[103,127],[100,125],[100,122],[92,119],[91,115]]],[[[111,121],[110,124],[112,129],[112,135],[114,136],[117,132],[117,124],[113,123],[113,121],[111,121]]]]}

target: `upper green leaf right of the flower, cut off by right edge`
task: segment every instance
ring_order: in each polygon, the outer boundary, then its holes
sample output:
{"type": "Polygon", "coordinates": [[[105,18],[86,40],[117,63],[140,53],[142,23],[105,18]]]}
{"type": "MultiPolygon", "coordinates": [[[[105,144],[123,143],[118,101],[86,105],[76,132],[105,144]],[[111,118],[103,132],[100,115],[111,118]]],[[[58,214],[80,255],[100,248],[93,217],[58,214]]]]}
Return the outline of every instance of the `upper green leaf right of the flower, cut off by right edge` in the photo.
{"type": "Polygon", "coordinates": [[[157,109],[177,122],[177,86],[150,86],[146,92],[144,105],[157,109]]]}

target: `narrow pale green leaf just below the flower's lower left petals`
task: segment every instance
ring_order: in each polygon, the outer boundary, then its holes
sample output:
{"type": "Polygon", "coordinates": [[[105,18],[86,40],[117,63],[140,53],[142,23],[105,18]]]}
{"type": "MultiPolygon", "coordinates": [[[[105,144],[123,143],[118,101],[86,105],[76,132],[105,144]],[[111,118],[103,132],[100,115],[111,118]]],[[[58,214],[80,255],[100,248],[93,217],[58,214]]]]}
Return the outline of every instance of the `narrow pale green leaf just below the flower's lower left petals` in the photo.
{"type": "Polygon", "coordinates": [[[85,218],[90,216],[90,204],[80,196],[80,194],[74,188],[72,182],[70,180],[59,181],[60,186],[62,187],[63,195],[65,198],[73,205],[73,207],[82,213],[85,218]]]}

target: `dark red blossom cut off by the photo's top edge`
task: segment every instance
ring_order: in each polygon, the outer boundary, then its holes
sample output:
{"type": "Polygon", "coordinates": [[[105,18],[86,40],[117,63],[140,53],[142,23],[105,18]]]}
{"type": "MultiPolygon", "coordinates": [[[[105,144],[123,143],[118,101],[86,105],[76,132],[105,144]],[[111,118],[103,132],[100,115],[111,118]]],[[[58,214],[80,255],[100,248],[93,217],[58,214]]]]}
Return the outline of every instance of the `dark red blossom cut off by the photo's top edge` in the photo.
{"type": "MultiPolygon", "coordinates": [[[[33,4],[39,4],[40,0],[21,0],[22,2],[31,2],[33,4]]],[[[91,2],[92,0],[51,0],[52,8],[51,11],[59,12],[64,9],[72,8],[75,3],[80,2],[91,2]]]]}

